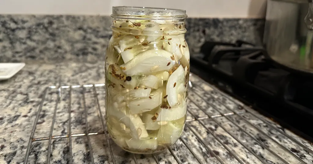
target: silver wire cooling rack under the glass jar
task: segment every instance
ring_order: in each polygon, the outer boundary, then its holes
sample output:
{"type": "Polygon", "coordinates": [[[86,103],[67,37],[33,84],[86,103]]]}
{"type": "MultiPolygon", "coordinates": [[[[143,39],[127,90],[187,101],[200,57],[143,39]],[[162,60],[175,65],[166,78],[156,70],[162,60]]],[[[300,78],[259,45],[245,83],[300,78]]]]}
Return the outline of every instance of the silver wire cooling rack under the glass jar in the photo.
{"type": "MultiPolygon", "coordinates": [[[[195,112],[191,111],[190,108],[187,108],[188,115],[191,116],[191,118],[188,119],[188,117],[187,117],[185,131],[186,131],[186,129],[190,130],[191,135],[194,135],[196,140],[198,140],[198,142],[200,142],[200,144],[202,144],[204,146],[204,149],[206,149],[206,152],[207,152],[206,154],[209,154],[210,157],[215,158],[215,161],[217,163],[224,164],[224,163],[233,163],[234,162],[234,163],[243,164],[243,163],[250,163],[250,162],[247,162],[247,160],[244,160],[242,158],[242,156],[239,156],[240,152],[234,151],[232,145],[229,145],[228,143],[223,141],[218,135],[214,134],[213,130],[211,128],[209,128],[207,126],[207,124],[205,124],[203,122],[203,120],[205,120],[205,119],[210,119],[211,121],[213,121],[215,124],[218,125],[218,127],[221,127],[228,135],[230,135],[234,140],[236,140],[240,145],[242,145],[242,147],[244,147],[244,149],[245,149],[244,150],[245,152],[248,151],[249,153],[251,153],[251,156],[254,156],[257,159],[256,161],[254,161],[254,163],[272,163],[272,162],[269,159],[267,159],[268,156],[264,156],[264,155],[259,154],[257,151],[255,151],[251,147],[251,145],[244,142],[242,139],[240,140],[239,136],[235,135],[233,132],[231,132],[229,130],[229,128],[227,128],[224,124],[221,124],[217,120],[218,118],[227,119],[231,124],[234,125],[234,127],[238,128],[240,133],[243,133],[243,134],[246,134],[247,136],[249,136],[250,137],[249,140],[253,141],[251,143],[255,143],[255,144],[260,145],[261,149],[266,150],[268,152],[269,156],[273,156],[276,160],[278,160],[279,162],[277,162],[277,163],[285,163],[285,164],[288,164],[288,163],[304,163],[304,164],[307,163],[307,164],[309,164],[309,163],[311,163],[310,158],[312,158],[312,156],[313,156],[313,151],[312,151],[312,148],[309,148],[310,146],[307,146],[307,144],[305,144],[303,141],[301,141],[299,139],[295,139],[291,135],[288,135],[287,133],[285,133],[285,131],[279,129],[278,126],[275,125],[275,123],[270,122],[269,120],[266,120],[263,116],[261,116],[259,114],[256,114],[251,108],[244,106],[243,104],[241,104],[237,100],[235,100],[235,99],[229,97],[228,95],[226,95],[225,93],[219,91],[217,88],[210,86],[208,83],[206,83],[204,81],[197,82],[197,81],[201,81],[201,79],[197,79],[197,78],[196,78],[195,82],[192,82],[192,83],[189,82],[189,86],[190,86],[189,87],[189,95],[193,94],[194,96],[198,96],[199,98],[202,98],[202,100],[201,100],[202,102],[207,103],[210,107],[212,107],[219,114],[209,114],[208,111],[206,109],[204,109],[203,105],[201,105],[198,100],[195,100],[194,98],[190,98],[190,96],[188,96],[189,103],[194,104],[198,108],[199,112],[202,111],[205,115],[204,116],[197,116],[197,114],[195,114],[195,112]],[[203,86],[211,88],[212,92],[222,96],[224,101],[220,98],[212,96],[213,101],[216,103],[219,103],[220,105],[223,106],[223,108],[228,109],[228,111],[230,111],[230,112],[221,111],[220,108],[217,108],[212,102],[209,102],[207,99],[205,99],[201,93],[201,90],[202,90],[202,92],[204,92],[203,86]],[[239,108],[240,110],[234,110],[234,109],[230,108],[229,106],[225,105],[225,101],[229,101],[229,102],[232,102],[233,104],[237,104],[240,107],[239,108]],[[253,115],[256,120],[262,121],[266,127],[269,127],[272,130],[275,130],[276,132],[278,132],[280,135],[282,135],[284,138],[286,138],[286,140],[290,140],[291,141],[290,144],[295,145],[296,147],[300,147],[304,152],[306,152],[305,155],[308,158],[303,158],[303,156],[301,156],[301,154],[299,154],[300,151],[298,151],[298,150],[295,151],[295,149],[290,149],[290,147],[283,145],[281,142],[277,141],[274,137],[270,136],[267,131],[264,131],[264,129],[253,124],[250,119],[243,116],[243,114],[247,114],[247,113],[253,115]],[[240,121],[244,122],[244,125],[239,123],[239,121],[235,121],[234,119],[232,119],[231,116],[234,116],[234,115],[237,115],[238,118],[240,119],[240,121]],[[197,128],[194,128],[191,124],[189,124],[192,122],[197,122],[198,124],[200,124],[200,126],[202,126],[201,128],[204,129],[204,131],[206,131],[206,133],[211,134],[213,136],[213,138],[215,138],[218,141],[218,143],[221,145],[220,148],[226,149],[226,152],[229,154],[229,156],[233,157],[234,161],[229,162],[229,161],[223,159],[222,157],[220,157],[219,153],[217,151],[214,151],[213,148],[208,144],[208,142],[203,139],[203,136],[201,134],[199,134],[199,132],[197,132],[197,130],[195,130],[197,128]],[[262,138],[260,139],[259,136],[255,136],[255,135],[249,133],[249,130],[244,129],[245,125],[250,125],[250,127],[252,127],[252,129],[257,131],[259,134],[266,136],[271,143],[275,143],[275,145],[277,147],[280,147],[281,148],[280,150],[284,150],[286,154],[282,155],[282,153],[279,153],[277,150],[274,150],[273,147],[270,147],[268,144],[264,143],[264,139],[262,139],[262,138]],[[291,158],[292,158],[292,160],[290,160],[291,158]]],[[[94,164],[96,157],[94,156],[93,149],[92,149],[93,145],[91,144],[91,140],[90,140],[90,137],[94,136],[94,135],[104,135],[103,137],[105,137],[105,139],[106,139],[106,142],[107,142],[108,147],[109,147],[108,149],[110,152],[110,157],[111,157],[110,159],[107,159],[110,161],[106,161],[106,162],[116,164],[117,163],[116,162],[116,156],[113,153],[113,148],[112,148],[113,145],[115,145],[115,144],[112,141],[110,141],[111,140],[110,136],[107,133],[105,120],[104,120],[105,116],[103,114],[104,112],[103,112],[103,109],[101,108],[100,100],[99,100],[100,99],[99,98],[99,94],[100,94],[99,89],[100,88],[103,89],[104,87],[105,87],[105,84],[73,85],[73,86],[49,86],[49,87],[47,87],[44,90],[44,93],[42,95],[42,100],[41,100],[41,103],[39,105],[39,109],[38,109],[38,113],[36,115],[35,123],[33,125],[32,131],[31,131],[29,143],[27,146],[26,155],[24,158],[24,164],[29,163],[28,158],[29,158],[30,152],[32,150],[32,145],[34,145],[35,142],[44,141],[44,140],[49,141],[48,149],[46,152],[44,152],[46,154],[46,157],[47,157],[45,162],[47,164],[49,164],[51,162],[50,158],[51,158],[52,141],[57,140],[57,139],[62,139],[62,138],[63,139],[68,138],[68,141],[69,141],[69,143],[68,143],[69,144],[68,145],[69,146],[69,157],[68,157],[69,159],[65,163],[69,163],[69,164],[75,163],[75,162],[73,162],[72,141],[73,141],[73,138],[77,138],[77,137],[87,137],[86,145],[88,145],[87,148],[89,151],[89,153],[87,155],[89,155],[89,157],[90,157],[90,161],[88,163],[94,164]],[[87,89],[89,91],[86,91],[87,89]],[[34,134],[36,131],[36,125],[39,124],[38,119],[39,119],[40,114],[42,112],[42,108],[45,104],[45,101],[47,101],[47,100],[45,100],[45,97],[50,90],[57,90],[57,92],[55,92],[55,94],[58,94],[58,95],[56,98],[56,103],[55,103],[54,109],[53,108],[50,109],[50,110],[53,110],[53,118],[52,118],[52,124],[50,127],[49,135],[47,135],[45,137],[34,137],[34,134]],[[85,126],[85,133],[73,134],[71,131],[71,129],[72,129],[72,121],[71,120],[73,119],[71,117],[72,95],[74,94],[74,91],[77,91],[77,90],[79,90],[78,94],[81,94],[82,99],[83,99],[83,109],[84,109],[84,117],[85,117],[85,125],[84,125],[85,126]],[[67,97],[67,99],[66,99],[66,101],[68,101],[68,104],[69,104],[68,109],[67,109],[68,131],[67,131],[67,134],[65,134],[65,135],[53,135],[53,130],[55,130],[54,123],[56,120],[58,104],[59,104],[59,101],[61,100],[61,97],[62,97],[61,93],[63,94],[64,92],[68,92],[68,94],[69,94],[69,97],[67,97]],[[100,112],[100,120],[99,121],[102,123],[102,127],[101,127],[102,130],[100,130],[98,132],[90,132],[89,131],[90,126],[92,126],[92,125],[89,125],[88,120],[87,120],[88,110],[87,110],[86,96],[85,96],[87,92],[92,94],[93,97],[95,98],[95,102],[96,102],[94,104],[96,106],[95,108],[97,108],[97,110],[100,112]]],[[[75,94],[76,94],[76,92],[75,92],[75,94]]],[[[104,94],[104,92],[102,92],[101,94],[104,94]]],[[[48,95],[49,95],[49,93],[48,93],[48,95]]],[[[186,150],[188,151],[188,153],[193,156],[193,158],[195,159],[194,162],[197,162],[200,164],[210,163],[207,160],[203,161],[200,159],[201,156],[199,155],[199,153],[196,153],[195,150],[193,149],[194,145],[188,144],[187,143],[188,140],[186,140],[186,138],[180,137],[179,140],[183,143],[184,146],[186,146],[186,148],[187,148],[186,150]]],[[[172,155],[172,157],[175,159],[175,161],[178,164],[184,163],[182,161],[182,159],[180,159],[180,157],[177,156],[177,153],[175,153],[171,147],[168,147],[168,151],[170,152],[170,154],[172,155]]],[[[241,150],[241,151],[243,151],[243,150],[241,150]]],[[[76,156],[77,156],[77,154],[76,154],[76,156]]],[[[135,154],[131,154],[131,157],[133,160],[131,163],[134,162],[134,163],[138,164],[138,157],[136,157],[135,154]]],[[[155,163],[157,163],[157,164],[160,163],[160,158],[158,157],[157,154],[152,154],[152,156],[150,158],[151,158],[151,160],[154,160],[155,163]]],[[[213,163],[216,163],[216,162],[213,162],[213,163]]],[[[273,162],[273,163],[275,163],[275,162],[273,162]]]]}

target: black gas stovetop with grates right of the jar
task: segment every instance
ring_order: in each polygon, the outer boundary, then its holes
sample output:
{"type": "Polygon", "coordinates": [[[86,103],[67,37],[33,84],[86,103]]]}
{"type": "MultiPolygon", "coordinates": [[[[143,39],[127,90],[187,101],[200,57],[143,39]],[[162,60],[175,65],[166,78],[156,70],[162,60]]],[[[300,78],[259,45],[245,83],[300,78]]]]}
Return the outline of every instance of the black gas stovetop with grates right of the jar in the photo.
{"type": "Polygon", "coordinates": [[[191,71],[224,92],[313,141],[313,78],[275,65],[263,47],[238,40],[206,42],[191,71]]]}

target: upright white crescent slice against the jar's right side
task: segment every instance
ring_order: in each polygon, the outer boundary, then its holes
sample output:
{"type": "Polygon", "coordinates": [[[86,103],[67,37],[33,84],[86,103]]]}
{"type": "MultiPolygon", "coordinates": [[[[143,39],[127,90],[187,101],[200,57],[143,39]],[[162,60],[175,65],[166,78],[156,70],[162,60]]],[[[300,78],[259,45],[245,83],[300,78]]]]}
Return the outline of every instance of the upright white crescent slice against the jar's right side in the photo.
{"type": "Polygon", "coordinates": [[[184,92],[187,90],[185,87],[185,71],[180,65],[168,78],[166,85],[166,94],[168,104],[174,108],[182,102],[184,92]],[[178,98],[181,99],[178,99],[178,98]]]}

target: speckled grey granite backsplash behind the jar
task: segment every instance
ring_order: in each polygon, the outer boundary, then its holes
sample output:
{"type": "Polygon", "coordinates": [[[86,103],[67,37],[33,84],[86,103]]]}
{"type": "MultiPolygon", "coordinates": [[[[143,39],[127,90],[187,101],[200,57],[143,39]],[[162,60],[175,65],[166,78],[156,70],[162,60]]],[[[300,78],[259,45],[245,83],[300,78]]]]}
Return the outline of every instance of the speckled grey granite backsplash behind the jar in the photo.
{"type": "MultiPolygon", "coordinates": [[[[0,62],[104,60],[110,16],[0,15],[0,62]]],[[[264,19],[187,18],[186,40],[197,53],[208,40],[260,45],[264,19]]]]}

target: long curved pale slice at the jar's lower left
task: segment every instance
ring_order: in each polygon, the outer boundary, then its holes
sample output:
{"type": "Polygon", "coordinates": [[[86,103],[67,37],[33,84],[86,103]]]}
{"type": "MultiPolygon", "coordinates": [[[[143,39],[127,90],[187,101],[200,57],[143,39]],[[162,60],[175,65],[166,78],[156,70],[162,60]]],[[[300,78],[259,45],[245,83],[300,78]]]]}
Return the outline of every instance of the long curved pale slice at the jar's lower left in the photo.
{"type": "Polygon", "coordinates": [[[139,116],[130,114],[126,107],[119,109],[114,107],[111,108],[112,109],[107,110],[108,117],[114,116],[125,124],[126,127],[131,130],[131,136],[133,138],[140,139],[142,137],[148,137],[147,130],[139,116]]]}

